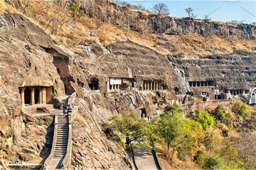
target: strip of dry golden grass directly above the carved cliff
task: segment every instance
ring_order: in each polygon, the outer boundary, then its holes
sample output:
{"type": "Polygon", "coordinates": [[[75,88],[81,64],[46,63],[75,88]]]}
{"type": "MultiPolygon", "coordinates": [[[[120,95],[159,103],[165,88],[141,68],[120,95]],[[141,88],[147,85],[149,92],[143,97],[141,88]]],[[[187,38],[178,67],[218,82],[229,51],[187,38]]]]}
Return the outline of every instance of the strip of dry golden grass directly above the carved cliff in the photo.
{"type": "MultiPolygon", "coordinates": [[[[3,4],[3,2],[1,2],[3,4]]],[[[59,6],[52,6],[48,13],[45,13],[39,23],[38,17],[44,4],[41,1],[32,1],[29,4],[29,12],[26,16],[34,23],[40,25],[45,30],[50,18],[56,16],[56,11],[62,10],[68,13],[70,22],[63,25],[62,29],[54,34],[51,33],[52,24],[46,29],[53,40],[60,46],[69,47],[78,44],[82,40],[96,40],[103,45],[109,45],[112,42],[130,39],[140,45],[144,45],[163,54],[183,54],[183,55],[211,55],[232,53],[233,49],[253,52],[255,40],[248,39],[227,39],[223,37],[201,37],[201,36],[170,36],[166,34],[155,34],[150,32],[140,33],[126,28],[117,28],[110,23],[102,23],[97,18],[82,17],[79,20],[73,20],[68,11],[61,9],[59,6]]],[[[17,12],[10,5],[4,3],[1,11],[9,9],[11,12],[17,12]]],[[[21,12],[19,12],[21,13],[21,12]]],[[[56,16],[57,17],[57,16],[56,16]]]]}

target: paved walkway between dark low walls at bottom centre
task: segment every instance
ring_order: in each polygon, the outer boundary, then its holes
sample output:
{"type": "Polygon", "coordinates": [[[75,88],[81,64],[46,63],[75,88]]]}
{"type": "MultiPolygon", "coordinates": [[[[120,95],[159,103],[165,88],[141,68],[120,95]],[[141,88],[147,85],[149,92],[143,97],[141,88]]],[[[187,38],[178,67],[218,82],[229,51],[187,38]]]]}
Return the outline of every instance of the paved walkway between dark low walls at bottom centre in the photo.
{"type": "Polygon", "coordinates": [[[156,162],[150,148],[133,147],[133,154],[138,169],[157,169],[156,162]]]}

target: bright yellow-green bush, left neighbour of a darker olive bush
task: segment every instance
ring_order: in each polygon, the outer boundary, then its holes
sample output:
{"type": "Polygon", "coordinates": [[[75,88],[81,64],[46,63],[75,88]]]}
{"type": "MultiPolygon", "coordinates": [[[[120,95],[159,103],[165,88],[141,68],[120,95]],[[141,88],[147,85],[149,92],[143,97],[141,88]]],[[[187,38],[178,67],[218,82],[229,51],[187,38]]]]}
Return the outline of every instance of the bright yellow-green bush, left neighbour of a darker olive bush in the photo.
{"type": "Polygon", "coordinates": [[[211,128],[214,124],[214,117],[208,114],[207,110],[196,110],[197,122],[201,123],[204,129],[211,128]]]}

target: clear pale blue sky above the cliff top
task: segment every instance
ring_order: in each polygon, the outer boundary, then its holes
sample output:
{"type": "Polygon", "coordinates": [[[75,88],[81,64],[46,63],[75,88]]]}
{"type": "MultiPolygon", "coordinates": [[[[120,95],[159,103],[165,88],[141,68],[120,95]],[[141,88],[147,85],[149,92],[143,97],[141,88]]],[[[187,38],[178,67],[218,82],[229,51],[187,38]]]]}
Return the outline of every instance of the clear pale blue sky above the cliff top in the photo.
{"type": "Polygon", "coordinates": [[[125,0],[130,4],[142,4],[147,9],[156,3],[165,3],[170,9],[170,15],[174,17],[186,17],[185,8],[191,7],[197,18],[209,15],[212,20],[228,22],[231,20],[245,20],[244,23],[256,22],[256,1],[219,0],[219,1],[152,1],[152,0],[125,0]]]}

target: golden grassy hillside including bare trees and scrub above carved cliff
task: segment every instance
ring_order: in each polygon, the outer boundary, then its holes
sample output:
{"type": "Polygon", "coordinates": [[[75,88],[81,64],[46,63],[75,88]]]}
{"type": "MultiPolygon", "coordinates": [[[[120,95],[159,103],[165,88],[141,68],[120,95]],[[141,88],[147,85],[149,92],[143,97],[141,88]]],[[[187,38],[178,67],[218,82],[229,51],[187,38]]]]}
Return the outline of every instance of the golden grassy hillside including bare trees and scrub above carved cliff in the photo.
{"type": "MultiPolygon", "coordinates": [[[[215,35],[188,36],[155,34],[152,27],[138,19],[138,11],[127,8],[114,10],[114,4],[86,1],[84,6],[71,6],[55,1],[23,1],[23,7],[14,9],[1,2],[0,12],[19,12],[40,25],[60,47],[72,47],[85,41],[99,41],[108,45],[130,39],[163,54],[209,55],[251,51],[254,40],[227,39],[215,35]],[[110,14],[112,17],[110,17],[110,14]],[[62,46],[64,45],[64,46],[62,46]]],[[[116,4],[117,5],[117,4],[116,4]]],[[[144,10],[136,7],[136,10],[144,10]]],[[[251,51],[252,52],[252,51],[251,51]]]]}

